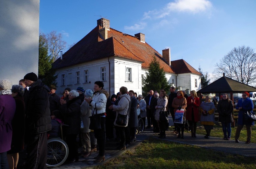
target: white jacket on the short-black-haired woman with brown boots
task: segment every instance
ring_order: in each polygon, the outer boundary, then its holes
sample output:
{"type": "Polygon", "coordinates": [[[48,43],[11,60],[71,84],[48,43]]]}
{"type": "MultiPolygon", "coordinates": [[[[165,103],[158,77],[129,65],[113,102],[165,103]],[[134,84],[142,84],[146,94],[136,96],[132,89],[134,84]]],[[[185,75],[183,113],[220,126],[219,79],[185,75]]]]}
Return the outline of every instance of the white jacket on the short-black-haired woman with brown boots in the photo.
{"type": "Polygon", "coordinates": [[[107,98],[109,96],[108,91],[102,89],[93,94],[92,102],[90,102],[92,114],[96,114],[95,108],[97,109],[97,114],[105,113],[107,98]]]}

